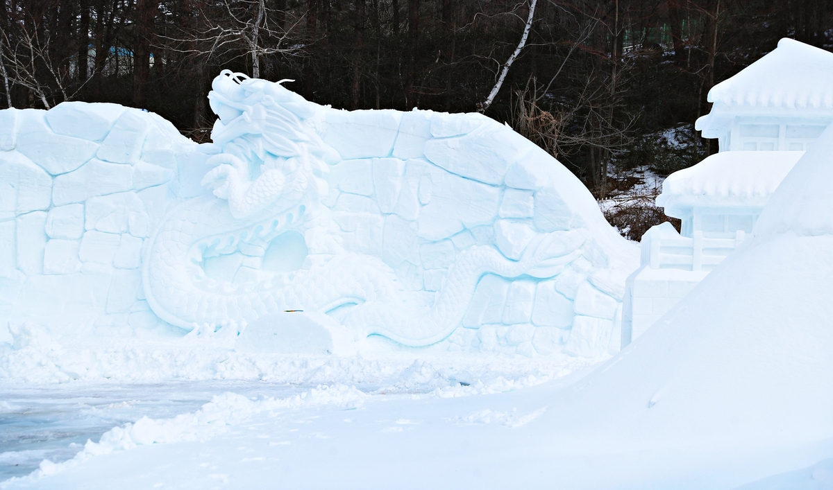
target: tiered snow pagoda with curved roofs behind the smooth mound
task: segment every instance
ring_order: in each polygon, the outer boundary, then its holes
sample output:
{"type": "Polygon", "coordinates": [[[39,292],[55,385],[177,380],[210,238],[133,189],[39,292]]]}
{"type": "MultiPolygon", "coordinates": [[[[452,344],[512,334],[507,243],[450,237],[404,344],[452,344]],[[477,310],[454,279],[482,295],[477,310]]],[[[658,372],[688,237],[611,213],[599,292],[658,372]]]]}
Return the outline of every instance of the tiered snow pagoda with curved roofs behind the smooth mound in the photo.
{"type": "Polygon", "coordinates": [[[719,152],[675,172],[656,205],[682,221],[648,230],[628,277],[622,347],[661,318],[745,240],[772,192],[833,121],[833,53],[792,39],[711,89],[696,121],[719,152]]]}

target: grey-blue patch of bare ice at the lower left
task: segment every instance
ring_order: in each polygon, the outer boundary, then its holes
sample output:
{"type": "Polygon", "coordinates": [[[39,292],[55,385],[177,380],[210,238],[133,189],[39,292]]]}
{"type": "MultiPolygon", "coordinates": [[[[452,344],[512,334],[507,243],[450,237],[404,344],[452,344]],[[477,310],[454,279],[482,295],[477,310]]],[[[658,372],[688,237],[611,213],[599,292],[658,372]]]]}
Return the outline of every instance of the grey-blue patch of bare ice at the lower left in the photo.
{"type": "MultiPolygon", "coordinates": [[[[195,411],[229,389],[247,396],[284,396],[303,387],[268,382],[167,381],[137,384],[2,385],[0,481],[36,470],[44,459],[64,461],[115,425],[143,416],[174,417],[195,411]]],[[[309,389],[307,387],[307,389],[309,389]]]]}

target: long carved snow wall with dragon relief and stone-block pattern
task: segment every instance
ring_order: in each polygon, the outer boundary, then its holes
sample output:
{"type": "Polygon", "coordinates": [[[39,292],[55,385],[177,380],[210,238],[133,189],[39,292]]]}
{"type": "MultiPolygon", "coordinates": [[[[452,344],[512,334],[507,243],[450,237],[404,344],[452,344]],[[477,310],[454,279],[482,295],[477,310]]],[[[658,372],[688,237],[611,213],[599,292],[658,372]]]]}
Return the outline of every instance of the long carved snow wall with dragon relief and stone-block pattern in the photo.
{"type": "Polygon", "coordinates": [[[10,317],[190,330],[302,309],[409,346],[618,349],[616,280],[638,250],[507,126],[337,111],[228,71],[212,88],[209,145],[121,106],[0,111],[14,128],[0,186],[16,190],[0,195],[0,275],[25,282],[10,317]],[[52,141],[72,154],[57,158],[52,141]],[[76,319],[31,308],[82,287],[76,319]]]}

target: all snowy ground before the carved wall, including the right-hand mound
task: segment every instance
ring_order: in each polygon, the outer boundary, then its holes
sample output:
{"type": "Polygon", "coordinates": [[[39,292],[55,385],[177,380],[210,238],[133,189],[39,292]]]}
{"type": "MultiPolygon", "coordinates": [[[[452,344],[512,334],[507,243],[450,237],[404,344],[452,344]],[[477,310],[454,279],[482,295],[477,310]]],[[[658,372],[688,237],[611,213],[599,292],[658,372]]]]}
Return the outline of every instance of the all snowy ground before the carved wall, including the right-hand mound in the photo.
{"type": "MultiPolygon", "coordinates": [[[[239,354],[222,335],[73,344],[18,328],[17,349],[0,353],[3,389],[18,397],[5,420],[25,423],[16,407],[51,397],[66,400],[44,410],[56,433],[76,428],[67,446],[117,427],[0,485],[833,488],[831,154],[833,129],[754,236],[611,359],[381,339],[359,356],[239,354]],[[119,420],[122,401],[135,408],[119,420]]],[[[31,465],[17,444],[5,461],[31,465]]]]}

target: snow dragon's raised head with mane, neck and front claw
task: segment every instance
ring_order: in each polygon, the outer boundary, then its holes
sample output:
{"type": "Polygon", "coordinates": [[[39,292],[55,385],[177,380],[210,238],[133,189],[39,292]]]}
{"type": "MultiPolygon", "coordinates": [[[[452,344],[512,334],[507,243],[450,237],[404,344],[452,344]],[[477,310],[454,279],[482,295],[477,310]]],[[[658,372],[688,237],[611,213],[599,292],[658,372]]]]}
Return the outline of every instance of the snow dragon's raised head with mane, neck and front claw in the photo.
{"type": "Polygon", "coordinates": [[[283,82],[292,81],[269,82],[223,70],[208,93],[218,116],[212,140],[222,153],[212,157],[217,168],[203,183],[213,183],[215,195],[228,200],[235,215],[262,209],[287,185],[312,183],[320,193],[326,183],[315,177],[327,173],[327,163],[341,159],[315,129],[322,107],[283,87],[283,82]],[[281,186],[275,185],[278,181],[281,186]]]}

